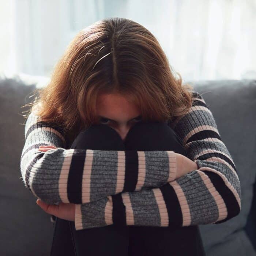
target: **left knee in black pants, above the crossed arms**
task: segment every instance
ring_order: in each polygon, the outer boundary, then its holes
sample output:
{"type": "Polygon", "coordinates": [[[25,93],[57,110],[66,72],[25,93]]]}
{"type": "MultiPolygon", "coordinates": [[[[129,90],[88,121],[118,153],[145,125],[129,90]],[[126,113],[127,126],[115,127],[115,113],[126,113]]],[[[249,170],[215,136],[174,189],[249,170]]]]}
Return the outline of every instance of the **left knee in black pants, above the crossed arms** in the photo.
{"type": "Polygon", "coordinates": [[[124,150],[124,144],[113,128],[104,124],[95,124],[80,132],[70,148],[124,150]]]}

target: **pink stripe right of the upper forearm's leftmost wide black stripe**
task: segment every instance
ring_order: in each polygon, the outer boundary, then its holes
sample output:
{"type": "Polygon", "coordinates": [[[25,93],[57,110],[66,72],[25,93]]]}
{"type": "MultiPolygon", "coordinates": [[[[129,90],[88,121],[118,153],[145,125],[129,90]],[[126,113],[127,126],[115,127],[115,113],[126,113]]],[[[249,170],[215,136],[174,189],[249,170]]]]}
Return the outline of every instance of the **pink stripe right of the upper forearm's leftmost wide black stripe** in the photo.
{"type": "Polygon", "coordinates": [[[83,179],[82,179],[82,203],[90,202],[91,192],[91,169],[93,166],[93,154],[91,149],[86,150],[86,158],[84,160],[83,167],[83,179]]]}

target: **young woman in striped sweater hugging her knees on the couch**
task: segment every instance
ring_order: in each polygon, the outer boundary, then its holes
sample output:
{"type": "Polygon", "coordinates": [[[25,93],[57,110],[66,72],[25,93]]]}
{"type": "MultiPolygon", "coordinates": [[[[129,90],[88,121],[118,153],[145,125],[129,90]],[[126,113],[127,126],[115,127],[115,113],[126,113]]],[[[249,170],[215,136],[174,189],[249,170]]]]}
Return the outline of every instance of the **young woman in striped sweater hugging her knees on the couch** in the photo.
{"type": "Polygon", "coordinates": [[[80,31],[32,105],[20,168],[57,217],[51,255],[204,255],[198,225],[239,214],[210,109],[142,25],[80,31]]]}

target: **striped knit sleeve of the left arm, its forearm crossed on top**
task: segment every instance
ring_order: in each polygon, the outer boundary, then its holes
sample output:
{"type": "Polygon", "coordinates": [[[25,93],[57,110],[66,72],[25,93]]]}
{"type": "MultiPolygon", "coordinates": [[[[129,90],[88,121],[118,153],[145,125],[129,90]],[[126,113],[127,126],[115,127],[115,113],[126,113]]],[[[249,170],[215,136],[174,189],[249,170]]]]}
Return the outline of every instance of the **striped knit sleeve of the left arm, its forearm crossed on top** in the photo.
{"type": "Polygon", "coordinates": [[[20,170],[25,187],[48,204],[82,204],[175,179],[174,151],[66,149],[63,131],[33,112],[25,124],[20,170]],[[41,145],[56,149],[39,151],[41,145]]]}

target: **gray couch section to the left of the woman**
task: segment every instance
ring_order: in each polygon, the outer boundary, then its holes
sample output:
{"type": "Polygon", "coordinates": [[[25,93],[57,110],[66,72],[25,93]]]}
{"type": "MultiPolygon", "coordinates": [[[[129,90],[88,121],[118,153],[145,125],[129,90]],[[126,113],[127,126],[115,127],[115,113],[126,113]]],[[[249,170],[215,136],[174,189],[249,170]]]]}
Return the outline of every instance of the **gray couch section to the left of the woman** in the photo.
{"type": "Polygon", "coordinates": [[[29,96],[34,90],[35,84],[19,77],[0,79],[0,255],[50,255],[50,215],[36,204],[36,197],[25,188],[20,173],[25,142],[25,119],[21,114],[29,109],[20,107],[31,102],[29,96]]]}

